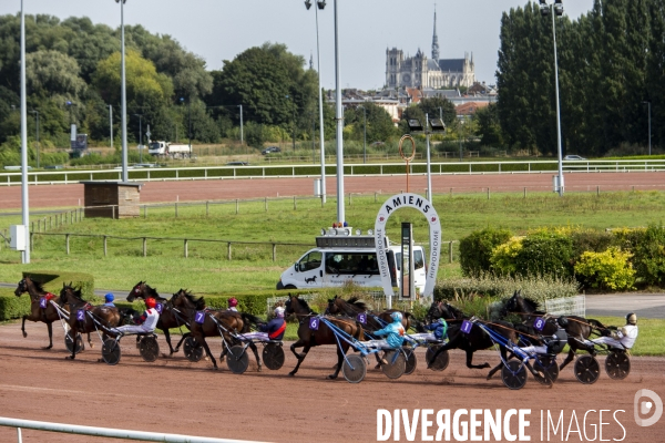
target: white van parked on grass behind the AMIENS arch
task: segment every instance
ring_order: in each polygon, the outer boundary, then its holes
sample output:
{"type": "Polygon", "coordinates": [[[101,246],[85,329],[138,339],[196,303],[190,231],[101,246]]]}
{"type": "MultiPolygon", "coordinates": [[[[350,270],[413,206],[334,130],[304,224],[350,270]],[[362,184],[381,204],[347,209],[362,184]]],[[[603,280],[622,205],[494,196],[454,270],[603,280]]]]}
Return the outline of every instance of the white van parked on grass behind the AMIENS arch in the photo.
{"type": "MultiPolygon", "coordinates": [[[[277,289],[329,288],[352,281],[364,287],[381,287],[375,237],[351,235],[351,228],[328,229],[316,238],[317,247],[309,249],[293,266],[282,272],[277,289]]],[[[390,245],[386,251],[392,287],[401,285],[401,246],[390,245]]],[[[416,290],[426,284],[426,262],[422,246],[413,247],[416,290]]],[[[406,277],[405,277],[406,278],[406,277]]]]}

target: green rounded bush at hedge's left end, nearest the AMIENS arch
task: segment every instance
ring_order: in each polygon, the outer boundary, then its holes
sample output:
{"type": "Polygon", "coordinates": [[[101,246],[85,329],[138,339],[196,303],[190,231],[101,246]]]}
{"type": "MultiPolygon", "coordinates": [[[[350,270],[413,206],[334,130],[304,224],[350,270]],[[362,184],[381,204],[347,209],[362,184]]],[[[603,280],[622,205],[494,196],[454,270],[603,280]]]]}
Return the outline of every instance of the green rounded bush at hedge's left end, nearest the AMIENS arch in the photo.
{"type": "Polygon", "coordinates": [[[508,229],[485,228],[460,240],[460,267],[466,277],[479,277],[490,271],[493,249],[511,238],[508,229]]]}

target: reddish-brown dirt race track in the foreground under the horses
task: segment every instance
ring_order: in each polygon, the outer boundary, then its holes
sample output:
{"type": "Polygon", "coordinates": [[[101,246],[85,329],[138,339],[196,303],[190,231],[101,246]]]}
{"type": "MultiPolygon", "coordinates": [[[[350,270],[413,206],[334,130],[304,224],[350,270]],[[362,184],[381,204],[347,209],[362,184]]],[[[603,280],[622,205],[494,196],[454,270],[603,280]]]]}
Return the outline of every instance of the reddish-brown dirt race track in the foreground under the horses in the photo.
{"type": "MultiPolygon", "coordinates": [[[[566,368],[552,389],[530,378],[521,391],[509,391],[498,378],[485,381],[487,370],[467,369],[460,351],[452,351],[443,372],[427,370],[419,353],[419,368],[411,375],[389,381],[382,373],[368,370],[365,381],[350,384],[342,378],[326,380],[336,361],[332,347],[314,348],[295,378],[287,375],[295,364],[290,352],[279,371],[264,369],[258,373],[250,363],[246,373],[235,375],[225,363],[213,371],[209,362],[190,363],[182,353],[146,363],[131,337],[123,340],[123,356],[115,367],[96,361],[99,346],[68,361],[62,329],[57,323],[50,351],[41,349],[48,340],[43,323],[28,323],[27,330],[28,338],[22,338],[20,324],[0,327],[2,416],[258,441],[370,442],[377,439],[377,409],[407,409],[410,414],[415,409],[432,409],[434,413],[442,409],[452,413],[459,409],[531,409],[526,427],[531,441],[541,441],[540,414],[549,410],[555,421],[563,411],[566,432],[572,422],[567,441],[577,442],[592,440],[594,426],[597,430],[601,422],[598,410],[603,409],[611,411],[602,416],[606,423],[604,440],[662,442],[665,431],[665,418],[651,427],[640,427],[633,419],[637,390],[651,389],[665,399],[665,358],[633,358],[633,370],[624,381],[613,381],[603,371],[595,384],[583,385],[566,368]],[[586,415],[587,410],[595,412],[586,415]],[[625,411],[615,415],[625,427],[624,439],[622,426],[613,419],[616,410],[625,411]],[[575,432],[573,411],[582,434],[575,432]]],[[[219,341],[212,343],[218,353],[219,341]]],[[[160,347],[166,348],[163,337],[160,347]]],[[[499,358],[485,351],[475,360],[483,361],[495,364],[499,358]]],[[[434,419],[430,434],[436,430],[434,419]]],[[[515,418],[511,432],[516,433],[515,418]]],[[[14,429],[0,427],[1,442],[16,442],[16,435],[14,429]]],[[[117,441],[31,430],[23,430],[22,435],[23,442],[117,441]]],[[[420,429],[416,435],[420,441],[420,429]]],[[[403,429],[400,441],[407,441],[403,429]]],[[[556,436],[551,430],[549,441],[562,441],[561,429],[556,436]]]]}

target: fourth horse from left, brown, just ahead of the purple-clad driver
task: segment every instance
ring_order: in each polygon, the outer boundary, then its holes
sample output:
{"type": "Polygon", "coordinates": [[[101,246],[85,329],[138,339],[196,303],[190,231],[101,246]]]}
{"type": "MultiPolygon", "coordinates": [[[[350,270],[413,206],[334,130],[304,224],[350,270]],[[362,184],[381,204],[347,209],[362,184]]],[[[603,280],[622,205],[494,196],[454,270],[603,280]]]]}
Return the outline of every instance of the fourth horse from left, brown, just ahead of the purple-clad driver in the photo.
{"type": "MultiPolygon", "coordinates": [[[[185,312],[188,318],[191,336],[196,342],[203,344],[206,356],[212,360],[213,367],[217,370],[217,361],[211,352],[211,348],[205,341],[206,337],[222,337],[223,340],[229,342],[232,346],[238,342],[238,339],[234,336],[237,333],[249,332],[249,326],[259,322],[259,319],[246,312],[235,311],[222,311],[222,310],[207,310],[205,307],[205,299],[203,297],[193,296],[185,289],[181,289],[175,292],[171,298],[171,303],[185,312]],[[207,315],[204,316],[203,323],[195,321],[197,311],[205,311],[207,315]]],[[[258,350],[254,342],[249,341],[249,348],[254,352],[256,358],[256,364],[258,365],[258,372],[262,371],[262,362],[258,358],[258,350]]],[[[222,347],[222,354],[219,360],[224,359],[227,353],[227,347],[222,347]]]]}

